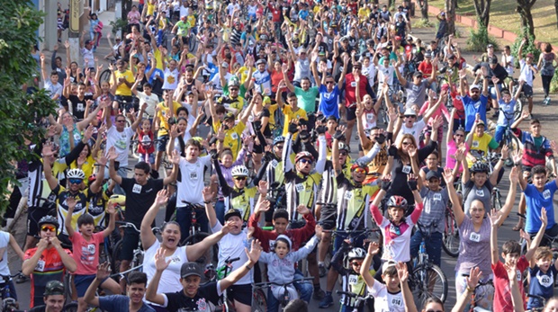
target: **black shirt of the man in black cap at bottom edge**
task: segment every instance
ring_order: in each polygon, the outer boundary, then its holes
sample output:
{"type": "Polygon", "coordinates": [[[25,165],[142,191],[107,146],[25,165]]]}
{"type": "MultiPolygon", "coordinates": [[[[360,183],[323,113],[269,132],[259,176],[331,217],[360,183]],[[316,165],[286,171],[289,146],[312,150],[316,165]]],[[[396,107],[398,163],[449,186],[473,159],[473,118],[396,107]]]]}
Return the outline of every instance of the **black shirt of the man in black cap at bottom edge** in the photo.
{"type": "Polygon", "coordinates": [[[205,285],[201,285],[195,297],[190,298],[184,295],[184,290],[176,292],[167,292],[166,309],[169,312],[178,311],[213,311],[215,305],[219,302],[219,293],[217,291],[218,282],[211,281],[205,285]]]}

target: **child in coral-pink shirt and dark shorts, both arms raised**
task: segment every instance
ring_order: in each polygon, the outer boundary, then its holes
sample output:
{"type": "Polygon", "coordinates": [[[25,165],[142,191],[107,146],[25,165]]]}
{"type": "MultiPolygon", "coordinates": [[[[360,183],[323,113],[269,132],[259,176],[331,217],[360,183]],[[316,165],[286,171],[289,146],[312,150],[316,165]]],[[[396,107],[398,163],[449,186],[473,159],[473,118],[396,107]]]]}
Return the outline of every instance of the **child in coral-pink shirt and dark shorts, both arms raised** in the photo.
{"type": "MultiPolygon", "coordinates": [[[[76,208],[76,199],[73,197],[67,198],[67,215],[71,216],[76,208]]],[[[85,213],[77,218],[77,227],[79,232],[72,227],[72,218],[66,218],[64,226],[67,230],[67,235],[72,242],[74,253],[72,256],[77,264],[75,273],[75,285],[77,291],[77,311],[84,312],[87,305],[84,301],[85,290],[93,282],[97,266],[99,265],[99,244],[103,243],[103,239],[111,235],[114,230],[114,222],[116,210],[112,205],[109,205],[107,212],[111,215],[109,227],[105,228],[103,232],[93,233],[94,219],[91,215],[85,213]]],[[[121,293],[120,285],[112,280],[105,279],[101,282],[101,287],[104,290],[111,290],[113,294],[121,293]]]]}

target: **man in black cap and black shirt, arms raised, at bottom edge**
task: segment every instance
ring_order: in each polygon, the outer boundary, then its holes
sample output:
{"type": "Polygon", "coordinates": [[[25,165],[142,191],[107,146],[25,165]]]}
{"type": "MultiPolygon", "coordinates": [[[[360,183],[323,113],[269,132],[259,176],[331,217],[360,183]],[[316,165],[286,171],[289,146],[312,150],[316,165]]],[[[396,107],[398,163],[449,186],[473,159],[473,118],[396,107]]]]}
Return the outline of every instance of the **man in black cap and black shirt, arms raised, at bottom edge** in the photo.
{"type": "Polygon", "coordinates": [[[220,295],[252,270],[261,253],[262,247],[259,241],[253,240],[250,251],[246,252],[248,261],[243,266],[230,272],[220,281],[211,281],[202,286],[200,282],[203,271],[198,263],[183,263],[180,268],[180,281],[184,285],[184,290],[160,294],[157,293],[158,283],[169,263],[165,259],[164,250],[159,248],[155,254],[157,272],[149,281],[146,299],[166,308],[169,312],[212,311],[219,304],[220,295]]]}

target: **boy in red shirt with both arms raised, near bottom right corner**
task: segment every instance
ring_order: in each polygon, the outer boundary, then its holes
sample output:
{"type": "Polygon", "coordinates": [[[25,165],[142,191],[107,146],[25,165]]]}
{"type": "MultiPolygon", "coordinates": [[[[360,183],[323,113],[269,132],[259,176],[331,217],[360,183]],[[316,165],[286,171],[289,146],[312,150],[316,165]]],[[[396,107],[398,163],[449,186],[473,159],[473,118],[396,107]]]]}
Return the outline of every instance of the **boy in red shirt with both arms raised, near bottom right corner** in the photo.
{"type": "MultiPolygon", "coordinates": [[[[518,281],[523,281],[523,272],[529,266],[531,262],[531,257],[535,254],[536,247],[540,244],[541,239],[545,235],[546,228],[546,209],[541,210],[541,227],[536,233],[535,239],[529,245],[529,249],[525,255],[519,256],[521,254],[521,245],[517,241],[510,240],[502,246],[502,258],[504,258],[505,263],[501,263],[498,258],[498,227],[501,225],[501,214],[496,213],[496,209],[492,209],[490,215],[491,220],[491,262],[492,262],[492,273],[494,274],[494,311],[513,311],[511,293],[509,291],[509,278],[506,272],[506,267],[517,266],[517,279],[518,281]]],[[[522,236],[528,236],[525,232],[522,236]]],[[[536,279],[531,279],[534,281],[536,279]]],[[[522,297],[525,297],[523,282],[518,282],[519,290],[522,297]]],[[[551,285],[551,288],[554,285],[551,285]]]]}

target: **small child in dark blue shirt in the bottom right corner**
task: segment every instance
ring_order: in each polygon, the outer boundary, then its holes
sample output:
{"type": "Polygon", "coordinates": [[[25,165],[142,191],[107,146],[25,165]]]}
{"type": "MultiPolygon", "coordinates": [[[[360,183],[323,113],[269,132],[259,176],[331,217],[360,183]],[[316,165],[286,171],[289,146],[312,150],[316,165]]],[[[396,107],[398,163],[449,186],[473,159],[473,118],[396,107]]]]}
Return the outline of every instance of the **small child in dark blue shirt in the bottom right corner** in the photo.
{"type": "MultiPolygon", "coordinates": [[[[531,259],[529,275],[529,293],[544,297],[547,301],[554,296],[554,277],[558,274],[558,261],[553,262],[553,252],[549,247],[538,247],[535,259],[531,259]]],[[[527,309],[543,308],[544,302],[537,298],[529,298],[527,309]]]]}

